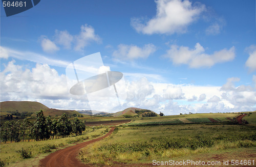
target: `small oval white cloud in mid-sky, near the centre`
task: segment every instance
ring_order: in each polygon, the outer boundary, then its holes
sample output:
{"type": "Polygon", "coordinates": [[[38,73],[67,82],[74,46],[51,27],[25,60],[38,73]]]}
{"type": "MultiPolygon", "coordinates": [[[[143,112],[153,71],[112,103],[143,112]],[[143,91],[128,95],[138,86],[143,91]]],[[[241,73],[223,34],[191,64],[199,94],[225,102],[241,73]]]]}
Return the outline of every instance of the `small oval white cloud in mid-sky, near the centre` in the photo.
{"type": "Polygon", "coordinates": [[[121,60],[134,60],[139,58],[147,58],[150,54],[156,51],[156,46],[153,44],[146,44],[143,48],[136,45],[118,45],[118,50],[113,52],[113,57],[121,60]]]}

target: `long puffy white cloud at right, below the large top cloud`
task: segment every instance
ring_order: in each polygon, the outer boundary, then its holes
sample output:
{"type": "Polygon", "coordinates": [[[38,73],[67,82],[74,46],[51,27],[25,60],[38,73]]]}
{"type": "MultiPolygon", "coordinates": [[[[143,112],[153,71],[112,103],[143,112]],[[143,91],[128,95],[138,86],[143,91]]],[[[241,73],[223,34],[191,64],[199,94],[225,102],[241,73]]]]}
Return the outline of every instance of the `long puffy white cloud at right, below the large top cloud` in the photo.
{"type": "Polygon", "coordinates": [[[206,54],[205,49],[200,43],[195,45],[194,49],[186,46],[172,45],[167,50],[165,57],[169,58],[173,64],[186,64],[190,68],[211,67],[216,63],[232,61],[235,57],[234,46],[229,50],[222,49],[213,54],[206,54]]]}

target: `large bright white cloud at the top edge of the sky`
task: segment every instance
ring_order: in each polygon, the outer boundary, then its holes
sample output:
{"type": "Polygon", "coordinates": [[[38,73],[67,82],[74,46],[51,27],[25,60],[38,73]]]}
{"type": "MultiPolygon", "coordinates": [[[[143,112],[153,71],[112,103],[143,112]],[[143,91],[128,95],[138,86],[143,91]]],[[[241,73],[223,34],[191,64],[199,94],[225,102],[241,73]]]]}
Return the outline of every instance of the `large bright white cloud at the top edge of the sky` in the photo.
{"type": "Polygon", "coordinates": [[[199,3],[191,4],[185,0],[159,0],[156,1],[157,14],[151,20],[134,18],[131,25],[137,32],[143,34],[174,34],[185,33],[187,26],[197,20],[205,6],[199,3]]]}

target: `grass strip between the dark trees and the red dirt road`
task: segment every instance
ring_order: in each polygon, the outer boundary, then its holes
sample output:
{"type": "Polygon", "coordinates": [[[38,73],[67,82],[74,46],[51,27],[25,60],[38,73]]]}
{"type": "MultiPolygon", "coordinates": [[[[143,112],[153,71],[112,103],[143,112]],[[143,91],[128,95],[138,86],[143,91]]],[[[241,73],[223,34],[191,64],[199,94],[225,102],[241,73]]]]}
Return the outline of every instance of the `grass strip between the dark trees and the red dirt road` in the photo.
{"type": "Polygon", "coordinates": [[[58,138],[49,141],[37,141],[37,142],[18,142],[1,144],[1,160],[9,163],[7,166],[34,166],[39,164],[39,160],[56,151],[68,146],[74,145],[73,143],[79,143],[84,140],[91,140],[108,132],[110,128],[104,126],[88,128],[88,132],[84,135],[75,137],[58,138]],[[32,158],[24,159],[19,153],[20,150],[26,150],[31,152],[32,158]]]}

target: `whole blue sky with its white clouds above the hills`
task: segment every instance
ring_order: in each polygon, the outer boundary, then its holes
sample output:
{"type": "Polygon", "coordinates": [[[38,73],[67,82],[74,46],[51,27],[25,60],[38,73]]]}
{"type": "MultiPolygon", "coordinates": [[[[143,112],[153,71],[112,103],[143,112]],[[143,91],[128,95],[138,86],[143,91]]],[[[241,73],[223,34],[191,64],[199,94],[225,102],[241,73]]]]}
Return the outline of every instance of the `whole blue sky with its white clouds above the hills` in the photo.
{"type": "Polygon", "coordinates": [[[254,0],[41,1],[9,17],[1,5],[1,101],[165,115],[256,110],[255,39],[254,0]],[[96,52],[105,70],[123,73],[121,105],[103,92],[69,93],[66,67],[96,52]]]}

